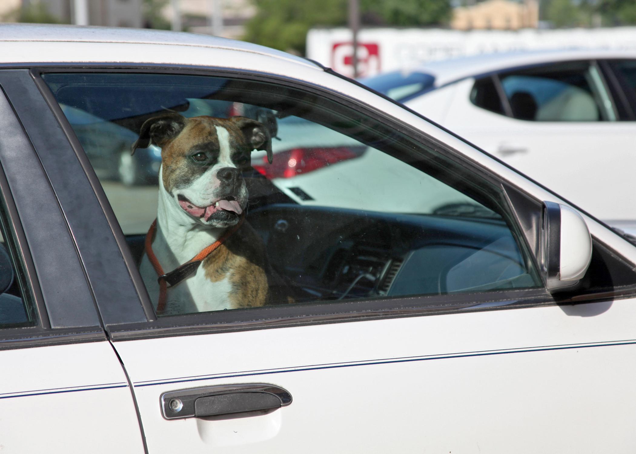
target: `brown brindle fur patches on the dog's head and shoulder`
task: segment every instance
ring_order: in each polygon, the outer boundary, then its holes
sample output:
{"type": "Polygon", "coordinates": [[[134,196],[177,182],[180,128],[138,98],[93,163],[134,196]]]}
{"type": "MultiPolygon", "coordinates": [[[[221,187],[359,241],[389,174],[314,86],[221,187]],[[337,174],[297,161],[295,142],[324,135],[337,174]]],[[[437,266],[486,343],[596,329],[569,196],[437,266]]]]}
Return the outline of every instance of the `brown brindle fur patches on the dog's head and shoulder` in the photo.
{"type": "MultiPolygon", "coordinates": [[[[244,117],[225,119],[198,116],[186,119],[178,114],[166,114],[144,123],[140,138],[132,150],[134,152],[137,146],[148,146],[150,139],[162,147],[162,182],[166,191],[174,196],[174,189],[188,187],[207,170],[207,167],[191,162],[189,156],[193,149],[205,149],[213,156],[211,162],[218,159],[220,147],[217,126],[228,131],[233,161],[244,154],[249,156],[254,148],[268,148],[269,155],[271,145],[263,144],[263,141],[271,141],[269,134],[264,133],[262,138],[245,134],[245,128],[253,128],[254,125],[263,127],[261,123],[244,117]]],[[[206,279],[211,282],[225,279],[230,282],[232,308],[293,302],[287,296],[284,280],[273,272],[268,263],[261,238],[247,223],[243,223],[239,230],[207,256],[201,266],[206,279]]]]}

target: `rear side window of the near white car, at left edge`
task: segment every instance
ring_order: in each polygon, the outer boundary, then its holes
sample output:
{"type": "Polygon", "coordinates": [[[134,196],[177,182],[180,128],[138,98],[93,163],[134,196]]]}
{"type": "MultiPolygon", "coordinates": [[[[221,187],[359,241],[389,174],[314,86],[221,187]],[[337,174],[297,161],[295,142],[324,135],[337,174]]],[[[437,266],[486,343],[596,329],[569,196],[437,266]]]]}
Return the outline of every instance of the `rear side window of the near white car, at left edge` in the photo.
{"type": "Polygon", "coordinates": [[[0,329],[36,324],[22,256],[18,253],[9,225],[4,200],[0,196],[0,329]]]}

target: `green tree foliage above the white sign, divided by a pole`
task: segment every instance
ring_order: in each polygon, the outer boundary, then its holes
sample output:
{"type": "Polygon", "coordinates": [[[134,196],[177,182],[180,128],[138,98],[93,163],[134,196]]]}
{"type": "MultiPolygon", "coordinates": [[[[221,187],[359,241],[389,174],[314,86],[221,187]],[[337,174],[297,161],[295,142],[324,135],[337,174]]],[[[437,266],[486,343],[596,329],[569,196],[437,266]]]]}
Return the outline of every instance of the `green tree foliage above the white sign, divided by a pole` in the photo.
{"type": "MultiPolygon", "coordinates": [[[[347,0],[254,0],[258,13],[245,25],[245,41],[305,53],[312,27],[347,24],[347,0]]],[[[450,18],[448,0],[361,0],[363,25],[417,27],[450,18]]]]}

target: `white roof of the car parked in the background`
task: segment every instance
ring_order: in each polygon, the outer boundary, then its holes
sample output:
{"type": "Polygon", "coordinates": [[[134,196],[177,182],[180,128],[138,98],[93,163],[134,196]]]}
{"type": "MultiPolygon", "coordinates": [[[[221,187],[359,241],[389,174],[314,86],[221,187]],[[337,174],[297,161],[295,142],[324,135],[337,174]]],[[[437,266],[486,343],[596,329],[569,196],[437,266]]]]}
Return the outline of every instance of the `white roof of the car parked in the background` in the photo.
{"type": "Polygon", "coordinates": [[[449,58],[414,65],[405,74],[424,72],[434,76],[434,86],[442,86],[467,77],[541,63],[590,60],[597,58],[636,58],[634,50],[524,50],[485,53],[468,57],[449,58]]]}

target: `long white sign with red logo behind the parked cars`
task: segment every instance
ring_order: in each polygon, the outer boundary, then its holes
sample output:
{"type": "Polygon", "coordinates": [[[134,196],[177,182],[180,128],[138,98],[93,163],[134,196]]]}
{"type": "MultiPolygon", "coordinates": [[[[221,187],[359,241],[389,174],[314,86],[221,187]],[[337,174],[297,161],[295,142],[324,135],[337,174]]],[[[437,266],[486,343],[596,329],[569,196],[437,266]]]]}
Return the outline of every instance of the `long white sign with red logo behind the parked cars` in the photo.
{"type": "MultiPolygon", "coordinates": [[[[307,57],[345,76],[352,76],[351,41],[349,29],[312,29],[307,34],[307,57]]],[[[363,29],[358,34],[358,72],[365,77],[460,55],[555,48],[636,50],[636,27],[467,32],[363,29]]]]}

